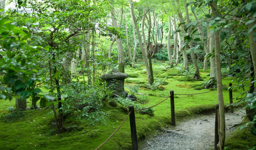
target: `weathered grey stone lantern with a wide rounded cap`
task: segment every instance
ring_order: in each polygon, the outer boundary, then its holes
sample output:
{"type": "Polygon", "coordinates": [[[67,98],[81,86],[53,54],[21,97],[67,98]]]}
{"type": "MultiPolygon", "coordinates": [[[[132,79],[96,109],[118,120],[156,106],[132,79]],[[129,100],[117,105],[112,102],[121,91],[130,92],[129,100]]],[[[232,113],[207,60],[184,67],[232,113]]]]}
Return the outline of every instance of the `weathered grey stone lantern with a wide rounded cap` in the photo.
{"type": "Polygon", "coordinates": [[[102,80],[107,81],[107,86],[114,91],[113,97],[116,95],[126,97],[128,95],[128,92],[124,91],[124,79],[126,78],[128,78],[128,74],[119,72],[117,68],[113,68],[110,73],[101,76],[102,80]]]}

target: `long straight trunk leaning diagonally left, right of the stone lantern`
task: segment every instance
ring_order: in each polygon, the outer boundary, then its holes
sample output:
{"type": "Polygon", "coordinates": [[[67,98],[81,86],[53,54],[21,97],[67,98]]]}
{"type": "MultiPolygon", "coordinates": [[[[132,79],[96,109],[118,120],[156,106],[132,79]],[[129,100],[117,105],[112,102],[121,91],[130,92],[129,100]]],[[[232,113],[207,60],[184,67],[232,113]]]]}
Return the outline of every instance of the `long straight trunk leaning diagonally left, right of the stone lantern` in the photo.
{"type": "Polygon", "coordinates": [[[147,62],[147,55],[146,55],[145,49],[142,45],[142,38],[141,38],[140,30],[139,30],[138,25],[137,25],[137,20],[135,19],[135,14],[134,14],[134,9],[133,9],[133,1],[132,0],[130,0],[130,5],[131,5],[132,18],[133,18],[134,26],[135,26],[135,29],[136,29],[136,32],[137,32],[141,53],[142,53],[144,63],[145,63],[145,67],[146,67],[146,70],[147,70],[148,84],[152,84],[153,83],[152,82],[153,77],[151,76],[150,68],[149,68],[149,65],[148,65],[148,62],[147,62]]]}

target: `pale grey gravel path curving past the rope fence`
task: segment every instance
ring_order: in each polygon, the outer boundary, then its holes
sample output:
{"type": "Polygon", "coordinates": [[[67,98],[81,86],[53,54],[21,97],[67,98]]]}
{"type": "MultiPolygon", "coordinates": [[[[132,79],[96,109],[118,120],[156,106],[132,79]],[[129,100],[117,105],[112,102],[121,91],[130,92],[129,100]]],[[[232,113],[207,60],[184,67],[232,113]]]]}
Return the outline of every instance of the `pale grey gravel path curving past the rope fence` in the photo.
{"type": "MultiPolygon", "coordinates": [[[[226,113],[226,128],[233,124],[238,124],[242,121],[242,116],[245,111],[235,110],[234,113],[226,113]]],[[[142,150],[202,150],[214,148],[214,125],[215,113],[200,114],[191,117],[190,120],[180,122],[174,128],[167,128],[166,130],[177,130],[181,134],[167,133],[164,131],[157,131],[151,139],[145,140],[144,145],[139,149],[142,150]]],[[[235,130],[238,126],[226,129],[226,137],[235,130]]]]}

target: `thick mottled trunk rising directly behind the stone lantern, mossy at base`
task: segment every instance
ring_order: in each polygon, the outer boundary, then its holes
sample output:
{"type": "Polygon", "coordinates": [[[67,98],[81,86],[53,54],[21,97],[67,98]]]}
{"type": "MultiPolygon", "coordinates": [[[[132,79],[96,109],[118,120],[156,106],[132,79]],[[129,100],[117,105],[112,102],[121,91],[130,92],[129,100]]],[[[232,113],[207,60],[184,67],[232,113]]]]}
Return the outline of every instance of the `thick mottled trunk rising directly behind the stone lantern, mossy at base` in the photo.
{"type": "MultiPolygon", "coordinates": [[[[114,8],[112,8],[112,10],[111,10],[111,19],[112,19],[113,27],[118,28],[114,8]]],[[[121,14],[121,20],[122,20],[122,14],[121,14]]],[[[116,36],[116,44],[117,44],[117,49],[118,49],[118,70],[120,72],[124,73],[123,44],[122,44],[122,39],[117,38],[117,36],[116,36]]]]}

